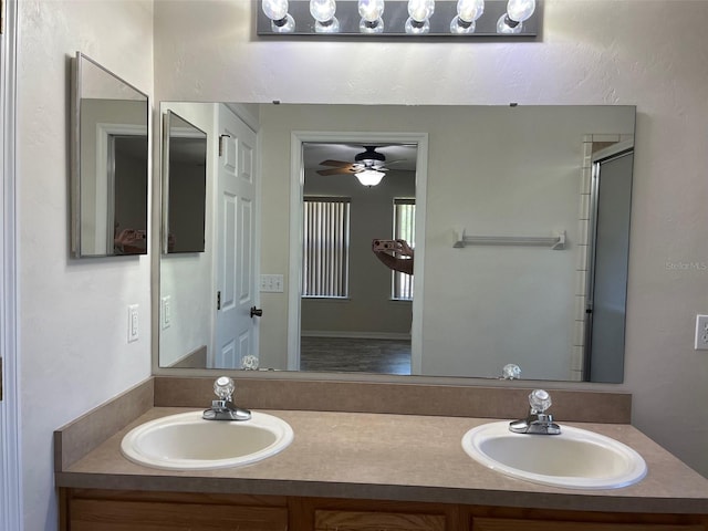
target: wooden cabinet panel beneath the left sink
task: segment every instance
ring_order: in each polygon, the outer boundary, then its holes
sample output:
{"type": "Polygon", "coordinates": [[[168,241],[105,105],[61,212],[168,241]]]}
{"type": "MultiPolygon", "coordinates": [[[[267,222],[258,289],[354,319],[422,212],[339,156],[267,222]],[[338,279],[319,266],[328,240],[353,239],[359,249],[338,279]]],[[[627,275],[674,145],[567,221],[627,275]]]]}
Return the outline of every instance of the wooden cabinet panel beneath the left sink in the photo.
{"type": "Polygon", "coordinates": [[[288,509],[73,500],[69,521],[71,531],[287,531],[288,509]]]}

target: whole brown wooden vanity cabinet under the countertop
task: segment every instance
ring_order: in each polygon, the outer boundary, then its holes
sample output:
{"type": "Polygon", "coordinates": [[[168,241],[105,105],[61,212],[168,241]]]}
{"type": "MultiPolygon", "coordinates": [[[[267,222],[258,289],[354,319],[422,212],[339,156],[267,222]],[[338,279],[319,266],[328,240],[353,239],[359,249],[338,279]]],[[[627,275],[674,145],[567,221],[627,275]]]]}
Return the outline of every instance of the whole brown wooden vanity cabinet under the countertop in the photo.
{"type": "Polygon", "coordinates": [[[708,516],[60,489],[61,531],[708,531],[708,516]]]}

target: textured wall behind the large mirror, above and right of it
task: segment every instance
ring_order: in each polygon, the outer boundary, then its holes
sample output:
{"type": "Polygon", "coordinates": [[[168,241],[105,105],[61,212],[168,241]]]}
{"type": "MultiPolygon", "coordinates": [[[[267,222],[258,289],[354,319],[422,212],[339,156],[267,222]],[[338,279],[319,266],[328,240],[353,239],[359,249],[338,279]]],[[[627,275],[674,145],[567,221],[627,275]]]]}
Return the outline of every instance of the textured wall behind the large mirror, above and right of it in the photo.
{"type": "MultiPolygon", "coordinates": [[[[251,9],[155,2],[158,98],[637,105],[626,377],[612,388],[634,393],[635,425],[708,475],[708,356],[693,348],[708,311],[705,2],[546,0],[541,39],[516,44],[259,40],[251,9]]],[[[262,214],[287,210],[283,197],[262,214]]],[[[269,258],[285,270],[287,249],[269,258]]]]}

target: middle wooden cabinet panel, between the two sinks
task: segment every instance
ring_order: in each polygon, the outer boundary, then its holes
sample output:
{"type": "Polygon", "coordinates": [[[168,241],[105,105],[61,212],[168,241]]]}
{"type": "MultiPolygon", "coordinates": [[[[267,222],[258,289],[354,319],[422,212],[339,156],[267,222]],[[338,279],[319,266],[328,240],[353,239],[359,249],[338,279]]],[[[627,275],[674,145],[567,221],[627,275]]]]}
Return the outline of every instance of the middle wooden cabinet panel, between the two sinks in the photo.
{"type": "Polygon", "coordinates": [[[445,516],[316,510],[314,529],[315,531],[445,531],[445,516]]]}

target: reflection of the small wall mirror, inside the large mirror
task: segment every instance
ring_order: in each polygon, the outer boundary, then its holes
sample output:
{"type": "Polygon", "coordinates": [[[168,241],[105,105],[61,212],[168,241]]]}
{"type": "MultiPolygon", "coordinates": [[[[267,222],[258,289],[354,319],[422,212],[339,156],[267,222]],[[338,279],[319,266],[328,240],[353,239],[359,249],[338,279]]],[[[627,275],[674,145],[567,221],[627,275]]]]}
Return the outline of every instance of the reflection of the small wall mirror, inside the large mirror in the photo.
{"type": "Polygon", "coordinates": [[[171,111],[164,121],[163,252],[204,252],[207,134],[171,111]]]}

